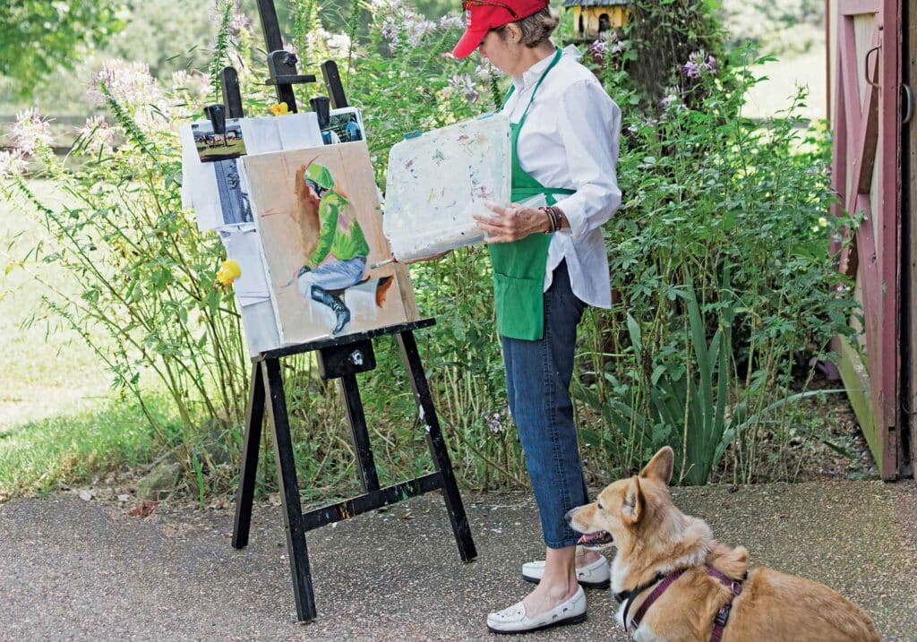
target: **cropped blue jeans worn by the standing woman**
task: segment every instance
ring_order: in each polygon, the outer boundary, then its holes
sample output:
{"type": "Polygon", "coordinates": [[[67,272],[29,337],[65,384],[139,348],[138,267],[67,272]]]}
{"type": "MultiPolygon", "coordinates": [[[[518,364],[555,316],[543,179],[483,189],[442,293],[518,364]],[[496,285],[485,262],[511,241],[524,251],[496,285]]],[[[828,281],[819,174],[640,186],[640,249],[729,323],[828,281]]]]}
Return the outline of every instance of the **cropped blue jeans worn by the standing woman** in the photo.
{"type": "Polygon", "coordinates": [[[549,548],[576,544],[564,515],[587,504],[573,402],[569,395],[576,327],[586,304],[570,290],[561,261],[545,293],[545,333],[537,341],[502,337],[506,394],[549,548]]]}

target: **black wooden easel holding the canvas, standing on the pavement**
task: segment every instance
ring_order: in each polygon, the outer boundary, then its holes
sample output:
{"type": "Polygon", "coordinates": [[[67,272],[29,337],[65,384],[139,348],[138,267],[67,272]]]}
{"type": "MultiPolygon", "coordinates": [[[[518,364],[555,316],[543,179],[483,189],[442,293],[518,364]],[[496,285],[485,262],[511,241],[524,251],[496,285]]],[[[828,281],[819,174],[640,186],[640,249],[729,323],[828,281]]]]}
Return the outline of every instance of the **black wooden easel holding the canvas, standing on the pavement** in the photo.
{"type": "MultiPolygon", "coordinates": [[[[314,83],[315,76],[300,75],[296,72],[296,58],[282,50],[280,27],[273,0],[259,0],[258,9],[261,28],[270,51],[268,66],[271,79],[268,81],[277,88],[277,97],[285,102],[291,111],[296,111],[296,100],[293,96],[294,83],[314,83]]],[[[335,108],[347,106],[337,65],[327,61],[322,65],[322,73],[330,95],[331,105],[335,108]]],[[[227,67],[222,72],[223,101],[226,116],[238,118],[242,113],[242,100],[238,87],[236,70],[227,67]]],[[[458,485],[452,471],[446,442],[443,440],[436,408],[430,396],[424,368],[421,364],[414,330],[430,327],[433,319],[421,319],[391,327],[381,327],[356,335],[342,338],[326,338],[281,349],[262,352],[252,358],[251,387],[246,416],[245,442],[242,447],[242,469],[239,475],[236,494],[236,520],[233,528],[233,548],[244,548],[249,543],[252,500],[255,493],[255,472],[258,468],[260,451],[261,426],[264,409],[267,406],[271,420],[271,435],[274,445],[274,456],[277,460],[278,482],[281,487],[283,524],[286,529],[287,550],[290,559],[290,570],[293,573],[293,595],[296,601],[296,614],[299,620],[315,619],[315,595],[312,588],[312,573],[309,568],[309,555],[305,544],[305,532],[349,519],[388,504],[401,502],[421,493],[440,490],[446,501],[449,522],[458,545],[458,554],[463,561],[469,562],[478,553],[471,538],[471,529],[465,507],[458,493],[458,485]],[[402,481],[386,488],[381,488],[376,466],[372,456],[370,436],[363,414],[363,404],[359,396],[357,374],[375,369],[376,360],[372,341],[383,336],[393,335],[401,349],[404,364],[407,368],[414,391],[414,400],[421,410],[421,425],[426,433],[426,443],[436,466],[436,472],[402,481]],[[303,513],[300,504],[299,483],[296,479],[296,467],[293,460],[293,443],[290,437],[290,419],[287,413],[286,398],[283,392],[281,360],[296,354],[316,351],[318,353],[319,371],[326,380],[339,379],[347,403],[347,415],[353,436],[354,451],[357,454],[357,472],[363,493],[345,502],[326,505],[303,513]]]]}

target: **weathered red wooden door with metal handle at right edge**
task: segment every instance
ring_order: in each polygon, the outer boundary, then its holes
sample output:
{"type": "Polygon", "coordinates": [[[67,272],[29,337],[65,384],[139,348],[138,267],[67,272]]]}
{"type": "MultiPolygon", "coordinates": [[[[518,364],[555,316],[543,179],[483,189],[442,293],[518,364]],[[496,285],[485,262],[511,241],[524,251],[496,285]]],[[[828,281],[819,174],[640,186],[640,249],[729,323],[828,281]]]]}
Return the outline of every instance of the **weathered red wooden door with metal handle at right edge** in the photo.
{"type": "MultiPolygon", "coordinates": [[[[900,452],[900,0],[834,4],[834,189],[865,216],[840,269],[863,305],[859,345],[838,342],[845,387],[882,479],[900,452]]],[[[854,322],[858,327],[858,322],[854,322]]]]}

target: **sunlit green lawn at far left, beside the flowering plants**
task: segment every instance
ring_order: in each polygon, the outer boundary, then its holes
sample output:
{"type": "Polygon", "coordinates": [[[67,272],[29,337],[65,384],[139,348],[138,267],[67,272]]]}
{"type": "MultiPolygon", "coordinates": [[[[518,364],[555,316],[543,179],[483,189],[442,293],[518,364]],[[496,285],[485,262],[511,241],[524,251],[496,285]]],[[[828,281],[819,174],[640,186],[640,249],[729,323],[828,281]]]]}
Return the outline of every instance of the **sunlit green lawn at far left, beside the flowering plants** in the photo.
{"type": "MultiPolygon", "coordinates": [[[[55,201],[50,183],[30,188],[46,202],[55,201]]],[[[0,265],[16,264],[43,239],[39,225],[0,198],[0,265]]],[[[88,483],[98,471],[148,460],[154,442],[137,404],[113,398],[111,376],[93,349],[42,308],[46,283],[73,293],[72,276],[34,260],[5,272],[0,271],[0,501],[61,483],[88,483]]],[[[93,339],[106,340],[102,333],[93,339]]]]}

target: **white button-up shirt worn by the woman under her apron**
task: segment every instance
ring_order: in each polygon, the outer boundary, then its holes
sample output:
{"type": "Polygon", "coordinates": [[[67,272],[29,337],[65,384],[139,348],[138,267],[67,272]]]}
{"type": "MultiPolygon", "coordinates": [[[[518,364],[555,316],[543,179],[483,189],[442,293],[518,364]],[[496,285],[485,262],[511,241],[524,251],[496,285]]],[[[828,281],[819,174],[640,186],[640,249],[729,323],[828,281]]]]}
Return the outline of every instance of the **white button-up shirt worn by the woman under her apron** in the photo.
{"type": "MultiPolygon", "coordinates": [[[[532,91],[554,56],[514,77],[513,95],[503,107],[518,122],[532,91]]],[[[579,63],[575,47],[563,50],[558,64],[538,87],[535,102],[519,133],[519,164],[546,187],[575,190],[557,194],[557,206],[570,227],[553,235],[547,250],[545,290],[554,269],[567,260],[570,286],[580,301],[612,306],[608,256],[602,224],[621,205],[615,164],[621,135],[621,110],[595,75],[579,63]]]]}

